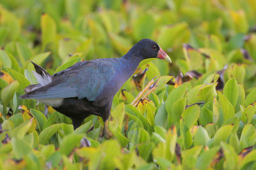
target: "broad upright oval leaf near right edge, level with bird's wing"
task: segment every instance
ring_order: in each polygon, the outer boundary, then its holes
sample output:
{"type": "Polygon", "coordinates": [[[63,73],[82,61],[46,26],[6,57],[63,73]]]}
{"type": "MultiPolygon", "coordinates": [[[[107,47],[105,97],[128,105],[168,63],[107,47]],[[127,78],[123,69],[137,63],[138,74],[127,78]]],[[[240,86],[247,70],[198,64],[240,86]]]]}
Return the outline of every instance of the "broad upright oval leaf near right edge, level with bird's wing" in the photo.
{"type": "Polygon", "coordinates": [[[235,108],[238,99],[238,86],[235,78],[227,81],[223,89],[223,94],[225,95],[225,97],[227,97],[228,101],[230,101],[232,106],[235,108]]]}

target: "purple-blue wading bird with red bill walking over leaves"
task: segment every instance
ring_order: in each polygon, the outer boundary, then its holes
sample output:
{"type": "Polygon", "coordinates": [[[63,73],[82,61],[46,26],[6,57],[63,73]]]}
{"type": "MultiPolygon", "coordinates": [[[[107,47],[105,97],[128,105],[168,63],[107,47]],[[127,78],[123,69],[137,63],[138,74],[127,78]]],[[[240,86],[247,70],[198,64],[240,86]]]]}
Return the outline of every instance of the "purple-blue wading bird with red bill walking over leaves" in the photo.
{"type": "Polygon", "coordinates": [[[111,113],[113,97],[140,62],[158,58],[172,62],[152,39],[141,39],[120,58],[84,60],[55,74],[32,62],[37,84],[24,89],[20,99],[36,99],[71,118],[77,129],[90,115],[102,117],[104,131],[111,113]]]}

